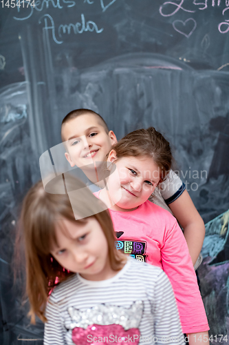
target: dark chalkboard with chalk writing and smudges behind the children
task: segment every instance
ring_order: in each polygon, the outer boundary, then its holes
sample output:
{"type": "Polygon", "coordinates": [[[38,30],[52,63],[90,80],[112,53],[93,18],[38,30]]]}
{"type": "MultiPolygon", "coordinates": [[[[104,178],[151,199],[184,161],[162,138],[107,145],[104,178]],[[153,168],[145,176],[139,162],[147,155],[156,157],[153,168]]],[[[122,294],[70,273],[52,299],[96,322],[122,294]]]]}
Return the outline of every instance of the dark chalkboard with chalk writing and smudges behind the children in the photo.
{"type": "Polygon", "coordinates": [[[228,238],[229,1],[3,0],[0,8],[0,343],[43,344],[43,325],[29,325],[28,303],[13,288],[14,233],[21,200],[41,178],[39,157],[61,143],[61,121],[76,108],[98,112],[118,139],[155,126],[171,141],[195,206],[218,224],[219,245],[210,250],[207,238],[199,272],[210,334],[229,333],[220,255],[228,238]]]}

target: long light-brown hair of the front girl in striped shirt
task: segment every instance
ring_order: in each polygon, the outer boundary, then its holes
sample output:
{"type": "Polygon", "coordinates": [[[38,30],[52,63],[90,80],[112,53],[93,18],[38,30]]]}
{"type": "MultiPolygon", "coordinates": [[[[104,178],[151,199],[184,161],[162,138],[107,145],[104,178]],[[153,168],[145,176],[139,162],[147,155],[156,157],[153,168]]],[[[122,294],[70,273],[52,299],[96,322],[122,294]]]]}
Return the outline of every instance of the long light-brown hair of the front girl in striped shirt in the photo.
{"type": "MultiPolygon", "coordinates": [[[[56,184],[59,184],[61,179],[62,176],[56,178],[56,184]]],[[[55,187],[54,180],[52,185],[55,187]]],[[[25,246],[26,292],[30,299],[29,315],[32,323],[35,322],[35,314],[43,322],[47,321],[45,306],[48,295],[54,286],[74,275],[74,273],[63,269],[50,255],[50,248],[53,243],[56,243],[56,225],[61,221],[61,218],[82,223],[87,221],[85,214],[95,217],[107,239],[108,259],[111,268],[120,270],[124,262],[124,254],[116,250],[115,247],[115,235],[109,211],[75,177],[68,175],[66,180],[65,174],[65,179],[62,182],[65,184],[66,191],[74,193],[75,190],[74,205],[71,204],[73,199],[69,199],[67,193],[45,192],[42,181],[30,188],[23,200],[17,246],[21,247],[21,241],[25,246]]],[[[58,191],[58,188],[56,189],[58,191]]],[[[49,190],[52,190],[52,186],[51,188],[49,186],[49,190]]]]}

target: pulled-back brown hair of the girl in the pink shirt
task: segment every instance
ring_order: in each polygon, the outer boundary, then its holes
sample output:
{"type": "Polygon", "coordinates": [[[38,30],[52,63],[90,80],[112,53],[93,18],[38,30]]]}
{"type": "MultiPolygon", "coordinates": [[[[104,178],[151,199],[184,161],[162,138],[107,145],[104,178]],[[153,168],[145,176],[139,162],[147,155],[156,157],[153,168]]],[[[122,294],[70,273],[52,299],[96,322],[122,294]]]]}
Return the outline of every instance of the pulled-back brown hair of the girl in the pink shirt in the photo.
{"type": "Polygon", "coordinates": [[[166,179],[172,166],[173,155],[169,142],[155,128],[134,130],[114,144],[117,158],[150,157],[160,168],[160,182],[166,179]]]}

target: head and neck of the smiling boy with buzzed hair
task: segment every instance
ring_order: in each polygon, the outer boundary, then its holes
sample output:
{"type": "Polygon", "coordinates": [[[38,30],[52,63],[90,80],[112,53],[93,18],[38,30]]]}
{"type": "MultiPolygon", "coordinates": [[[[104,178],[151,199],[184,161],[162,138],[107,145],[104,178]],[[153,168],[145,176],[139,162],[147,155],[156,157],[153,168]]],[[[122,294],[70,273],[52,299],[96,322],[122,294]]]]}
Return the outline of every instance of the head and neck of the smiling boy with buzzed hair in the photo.
{"type": "Polygon", "coordinates": [[[69,112],[62,122],[61,139],[70,166],[80,168],[86,177],[82,173],[79,176],[79,169],[74,171],[74,175],[83,179],[93,192],[103,188],[106,177],[103,163],[111,146],[117,141],[116,135],[108,130],[104,119],[92,110],[69,112]]]}

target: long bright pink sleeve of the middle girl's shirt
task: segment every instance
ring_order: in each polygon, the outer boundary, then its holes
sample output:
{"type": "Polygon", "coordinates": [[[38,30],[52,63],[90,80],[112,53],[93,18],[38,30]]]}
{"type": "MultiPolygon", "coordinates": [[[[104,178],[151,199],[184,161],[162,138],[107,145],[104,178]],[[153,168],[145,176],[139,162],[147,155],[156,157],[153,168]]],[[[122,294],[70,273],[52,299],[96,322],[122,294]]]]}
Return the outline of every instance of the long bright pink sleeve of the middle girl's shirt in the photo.
{"type": "Polygon", "coordinates": [[[166,230],[161,248],[162,267],[173,286],[184,333],[208,331],[208,320],[197,277],[181,228],[175,221],[166,230]]]}

